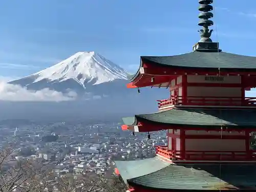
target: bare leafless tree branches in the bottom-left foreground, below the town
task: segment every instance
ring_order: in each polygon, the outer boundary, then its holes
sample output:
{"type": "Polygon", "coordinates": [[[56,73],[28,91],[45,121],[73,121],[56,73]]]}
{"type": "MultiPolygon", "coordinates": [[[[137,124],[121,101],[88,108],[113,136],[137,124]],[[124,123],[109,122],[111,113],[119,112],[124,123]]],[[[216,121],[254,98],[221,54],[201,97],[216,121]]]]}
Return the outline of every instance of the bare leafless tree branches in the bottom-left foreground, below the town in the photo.
{"type": "Polygon", "coordinates": [[[0,153],[0,192],[119,192],[125,184],[111,172],[104,176],[95,173],[54,175],[54,164],[33,160],[13,161],[11,148],[0,153]]]}

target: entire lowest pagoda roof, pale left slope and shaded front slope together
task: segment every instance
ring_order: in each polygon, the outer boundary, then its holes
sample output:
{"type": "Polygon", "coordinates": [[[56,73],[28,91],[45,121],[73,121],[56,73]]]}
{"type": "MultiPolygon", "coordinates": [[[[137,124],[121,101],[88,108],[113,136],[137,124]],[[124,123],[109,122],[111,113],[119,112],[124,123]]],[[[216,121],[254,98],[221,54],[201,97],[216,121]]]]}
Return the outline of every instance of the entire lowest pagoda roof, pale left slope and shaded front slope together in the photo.
{"type": "Polygon", "coordinates": [[[115,163],[125,182],[144,187],[183,190],[256,189],[254,164],[171,164],[159,157],[115,163]]]}

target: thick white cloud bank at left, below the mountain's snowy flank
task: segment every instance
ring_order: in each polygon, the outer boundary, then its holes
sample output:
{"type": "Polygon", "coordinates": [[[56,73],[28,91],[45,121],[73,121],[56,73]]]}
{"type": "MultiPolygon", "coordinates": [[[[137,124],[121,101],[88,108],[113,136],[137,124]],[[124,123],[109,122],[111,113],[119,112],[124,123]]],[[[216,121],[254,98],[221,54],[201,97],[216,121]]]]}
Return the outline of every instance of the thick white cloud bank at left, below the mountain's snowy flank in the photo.
{"type": "Polygon", "coordinates": [[[5,80],[0,81],[0,100],[5,101],[68,101],[75,100],[77,94],[73,91],[61,93],[49,89],[39,91],[28,90],[14,84],[8,84],[5,80]]]}

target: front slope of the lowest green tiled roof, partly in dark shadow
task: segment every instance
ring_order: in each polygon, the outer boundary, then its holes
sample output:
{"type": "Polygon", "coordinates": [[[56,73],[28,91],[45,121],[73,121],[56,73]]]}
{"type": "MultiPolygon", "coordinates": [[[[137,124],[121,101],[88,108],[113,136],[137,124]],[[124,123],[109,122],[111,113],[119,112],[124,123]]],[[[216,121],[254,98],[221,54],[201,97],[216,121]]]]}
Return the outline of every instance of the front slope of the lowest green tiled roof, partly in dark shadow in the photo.
{"type": "Polygon", "coordinates": [[[256,165],[170,164],[154,173],[129,179],[128,182],[161,189],[256,190],[256,165]]]}

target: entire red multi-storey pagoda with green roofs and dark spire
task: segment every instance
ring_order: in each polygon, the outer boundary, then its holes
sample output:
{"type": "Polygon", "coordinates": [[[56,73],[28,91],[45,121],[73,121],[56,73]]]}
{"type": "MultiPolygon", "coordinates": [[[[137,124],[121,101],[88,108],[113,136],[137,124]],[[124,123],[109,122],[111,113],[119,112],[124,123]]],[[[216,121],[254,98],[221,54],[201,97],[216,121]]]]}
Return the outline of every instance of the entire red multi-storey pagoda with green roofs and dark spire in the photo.
{"type": "Polygon", "coordinates": [[[165,87],[170,98],[153,114],[123,118],[122,130],[167,130],[168,145],[156,157],[115,161],[129,191],[255,190],[256,57],[222,52],[210,39],[213,0],[199,0],[201,39],[193,52],[141,56],[128,88],[165,87]]]}

